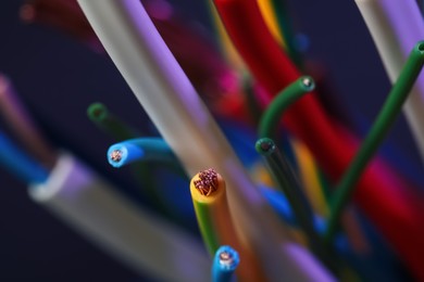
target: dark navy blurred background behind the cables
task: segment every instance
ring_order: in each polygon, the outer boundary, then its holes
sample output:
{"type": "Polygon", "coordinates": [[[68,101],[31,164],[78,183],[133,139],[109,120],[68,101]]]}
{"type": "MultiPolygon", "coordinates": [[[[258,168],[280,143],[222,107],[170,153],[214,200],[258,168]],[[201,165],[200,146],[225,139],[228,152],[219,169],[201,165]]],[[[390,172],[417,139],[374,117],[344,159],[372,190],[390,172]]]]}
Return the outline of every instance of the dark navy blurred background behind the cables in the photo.
{"type": "MultiPolygon", "coordinates": [[[[170,3],[186,24],[212,40],[207,1],[170,3]]],[[[363,134],[388,93],[389,82],[357,7],[353,1],[336,0],[287,3],[304,43],[304,57],[331,81],[332,101],[337,101],[334,108],[363,134]]],[[[107,54],[55,26],[25,23],[20,17],[23,4],[25,1],[0,3],[0,72],[13,82],[55,148],[73,152],[130,200],[149,206],[129,171],[107,163],[105,152],[114,140],[86,114],[88,105],[102,102],[126,123],[154,134],[141,106],[107,54]]],[[[0,128],[9,130],[2,119],[0,128]]],[[[424,184],[423,167],[403,117],[383,151],[409,179],[424,184]]],[[[186,213],[192,213],[190,208],[186,213]]],[[[191,229],[196,232],[196,227],[191,229]]],[[[29,279],[142,280],[32,202],[26,184],[0,169],[0,280],[29,279]]]]}

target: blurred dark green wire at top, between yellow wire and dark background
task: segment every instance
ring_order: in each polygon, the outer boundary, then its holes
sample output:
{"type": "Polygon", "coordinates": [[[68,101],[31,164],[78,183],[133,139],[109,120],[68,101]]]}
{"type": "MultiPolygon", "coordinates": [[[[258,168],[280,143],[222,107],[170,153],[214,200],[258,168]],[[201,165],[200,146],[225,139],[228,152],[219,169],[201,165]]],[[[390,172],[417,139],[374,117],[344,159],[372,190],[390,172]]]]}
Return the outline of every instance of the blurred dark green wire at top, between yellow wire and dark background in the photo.
{"type": "Polygon", "coordinates": [[[287,8],[284,0],[271,0],[277,18],[277,25],[286,42],[286,52],[292,62],[298,66],[302,67],[302,60],[295,46],[295,36],[290,25],[289,16],[287,15],[287,8]]]}

